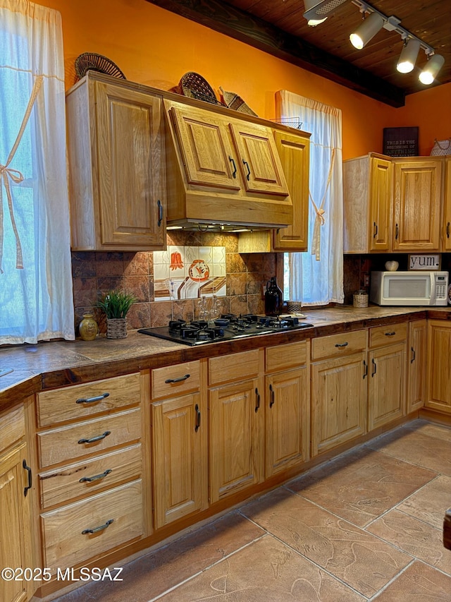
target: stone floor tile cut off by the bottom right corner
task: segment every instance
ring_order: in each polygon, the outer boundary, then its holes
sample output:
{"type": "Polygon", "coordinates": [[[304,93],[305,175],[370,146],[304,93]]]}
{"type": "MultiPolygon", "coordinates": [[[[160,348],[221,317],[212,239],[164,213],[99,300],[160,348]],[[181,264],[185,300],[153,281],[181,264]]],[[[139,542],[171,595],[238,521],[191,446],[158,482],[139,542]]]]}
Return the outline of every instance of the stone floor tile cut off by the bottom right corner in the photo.
{"type": "Polygon", "coordinates": [[[414,562],[374,602],[450,602],[451,577],[414,562]]]}

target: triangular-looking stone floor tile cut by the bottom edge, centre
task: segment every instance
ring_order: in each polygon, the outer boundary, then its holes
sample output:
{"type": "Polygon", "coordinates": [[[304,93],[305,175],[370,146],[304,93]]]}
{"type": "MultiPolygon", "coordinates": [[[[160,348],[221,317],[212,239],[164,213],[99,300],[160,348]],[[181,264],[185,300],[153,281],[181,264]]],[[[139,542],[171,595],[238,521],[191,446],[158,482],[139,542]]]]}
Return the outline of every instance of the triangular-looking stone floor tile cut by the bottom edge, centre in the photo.
{"type": "Polygon", "coordinates": [[[159,598],[161,602],[364,602],[270,535],[159,598]]]}

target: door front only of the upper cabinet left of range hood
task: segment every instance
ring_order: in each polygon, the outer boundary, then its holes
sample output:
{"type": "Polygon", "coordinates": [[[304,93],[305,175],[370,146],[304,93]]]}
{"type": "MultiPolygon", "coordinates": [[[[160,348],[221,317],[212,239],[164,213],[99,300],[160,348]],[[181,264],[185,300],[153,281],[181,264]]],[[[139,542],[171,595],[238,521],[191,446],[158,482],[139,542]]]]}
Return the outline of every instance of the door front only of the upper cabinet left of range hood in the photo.
{"type": "Polygon", "coordinates": [[[161,98],[95,82],[103,245],[164,246],[161,98]]]}

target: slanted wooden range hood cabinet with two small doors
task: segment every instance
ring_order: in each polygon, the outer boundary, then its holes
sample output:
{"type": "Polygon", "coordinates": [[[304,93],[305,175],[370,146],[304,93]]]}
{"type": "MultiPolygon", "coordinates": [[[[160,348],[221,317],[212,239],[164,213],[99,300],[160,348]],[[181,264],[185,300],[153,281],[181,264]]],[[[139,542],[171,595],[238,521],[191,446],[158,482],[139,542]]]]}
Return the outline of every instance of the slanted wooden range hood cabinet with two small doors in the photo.
{"type": "Polygon", "coordinates": [[[292,200],[271,127],[216,107],[172,100],[164,106],[168,224],[292,224],[292,200]]]}

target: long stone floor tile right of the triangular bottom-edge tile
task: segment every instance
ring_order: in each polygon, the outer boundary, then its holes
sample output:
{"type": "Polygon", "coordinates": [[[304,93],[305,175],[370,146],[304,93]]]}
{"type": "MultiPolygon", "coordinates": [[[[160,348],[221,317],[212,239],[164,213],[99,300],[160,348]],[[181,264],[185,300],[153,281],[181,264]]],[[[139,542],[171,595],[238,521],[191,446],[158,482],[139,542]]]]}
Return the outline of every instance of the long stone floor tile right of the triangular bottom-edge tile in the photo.
{"type": "Polygon", "coordinates": [[[241,512],[368,598],[412,561],[410,555],[283,488],[241,512]]]}

